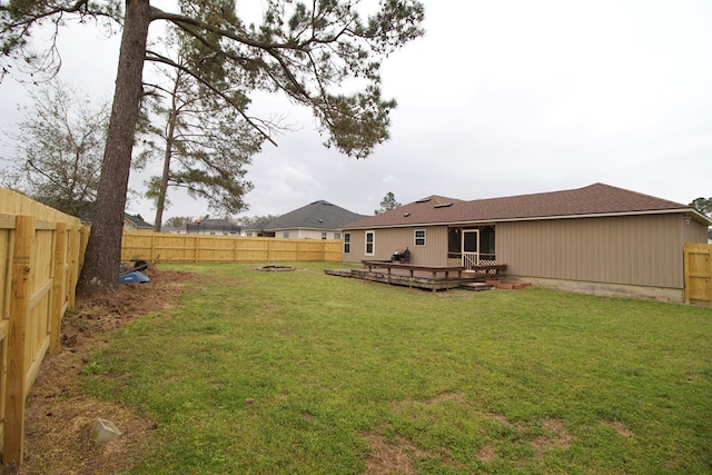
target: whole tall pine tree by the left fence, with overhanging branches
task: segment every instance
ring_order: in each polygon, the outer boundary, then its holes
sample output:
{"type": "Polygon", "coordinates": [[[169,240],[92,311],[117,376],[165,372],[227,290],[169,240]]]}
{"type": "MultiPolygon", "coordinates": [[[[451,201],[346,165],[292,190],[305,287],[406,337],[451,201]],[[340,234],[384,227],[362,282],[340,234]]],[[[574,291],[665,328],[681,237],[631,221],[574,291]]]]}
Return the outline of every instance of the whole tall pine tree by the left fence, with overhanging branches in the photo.
{"type": "MultiPolygon", "coordinates": [[[[93,17],[116,18],[122,23],[101,180],[79,281],[85,293],[117,285],[134,131],[144,91],[144,61],[164,61],[147,51],[151,22],[175,24],[200,44],[206,58],[219,58],[227,69],[241,69],[247,89],[280,91],[309,107],[326,133],[327,147],[363,158],[388,138],[389,111],[396,102],[380,95],[380,63],[423,33],[423,6],[417,0],[383,0],[377,11],[364,19],[358,1],[263,3],[265,12],[257,26],[246,26],[234,3],[221,0],[181,0],[179,12],[160,10],[149,0],[126,0],[122,12],[116,1],[9,0],[0,6],[3,71],[8,70],[8,58],[26,58],[31,63],[28,34],[39,22],[50,20],[60,28],[68,18],[93,17]],[[344,92],[345,83],[354,85],[355,91],[344,92]]],[[[220,93],[210,73],[200,68],[186,72],[244,112],[239,103],[220,93]]]]}

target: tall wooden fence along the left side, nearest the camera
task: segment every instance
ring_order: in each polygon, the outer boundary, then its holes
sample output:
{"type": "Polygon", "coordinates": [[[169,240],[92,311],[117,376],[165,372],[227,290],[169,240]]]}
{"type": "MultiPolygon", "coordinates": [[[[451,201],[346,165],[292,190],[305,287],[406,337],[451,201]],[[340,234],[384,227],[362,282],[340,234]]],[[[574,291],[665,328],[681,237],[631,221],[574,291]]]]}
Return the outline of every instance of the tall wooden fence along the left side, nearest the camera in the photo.
{"type": "Polygon", "coordinates": [[[79,219],[0,188],[0,434],[20,464],[27,395],[44,355],[60,349],[87,232],[79,219]]]}

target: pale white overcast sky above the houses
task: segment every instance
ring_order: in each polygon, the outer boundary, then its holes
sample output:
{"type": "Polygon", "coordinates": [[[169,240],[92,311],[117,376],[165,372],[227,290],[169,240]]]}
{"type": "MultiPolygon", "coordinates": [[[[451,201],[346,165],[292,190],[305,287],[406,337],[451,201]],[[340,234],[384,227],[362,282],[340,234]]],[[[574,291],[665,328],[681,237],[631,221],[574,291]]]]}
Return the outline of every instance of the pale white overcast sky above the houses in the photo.
{"type": "MultiPolygon", "coordinates": [[[[238,13],[240,3],[248,2],[238,13]]],[[[368,159],[325,149],[309,110],[255,96],[255,111],[285,115],[300,129],[255,156],[243,215],[281,215],[319,199],[370,215],[388,191],[406,204],[599,181],[681,204],[712,196],[712,2],[424,4],[425,37],[384,63],[383,91],[398,108],[390,140],[368,159]]],[[[75,29],[62,47],[61,79],[109,98],[118,38],[75,29]]],[[[2,130],[19,121],[22,91],[0,83],[2,130]]],[[[131,187],[144,179],[134,176],[131,187]]],[[[166,218],[209,212],[201,201],[169,199],[166,218]]],[[[140,199],[127,211],[151,222],[155,215],[140,199]]]]}

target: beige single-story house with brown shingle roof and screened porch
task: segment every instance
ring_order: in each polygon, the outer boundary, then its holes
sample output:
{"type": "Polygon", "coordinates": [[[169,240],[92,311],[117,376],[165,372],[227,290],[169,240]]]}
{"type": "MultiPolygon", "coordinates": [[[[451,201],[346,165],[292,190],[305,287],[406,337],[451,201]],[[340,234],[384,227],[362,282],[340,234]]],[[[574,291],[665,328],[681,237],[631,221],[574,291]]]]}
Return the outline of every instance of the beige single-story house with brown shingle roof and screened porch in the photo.
{"type": "Polygon", "coordinates": [[[507,278],[596,294],[681,301],[683,244],[712,220],[692,206],[603,184],[504,198],[431,196],[345,225],[343,261],[504,264],[507,278]]]}

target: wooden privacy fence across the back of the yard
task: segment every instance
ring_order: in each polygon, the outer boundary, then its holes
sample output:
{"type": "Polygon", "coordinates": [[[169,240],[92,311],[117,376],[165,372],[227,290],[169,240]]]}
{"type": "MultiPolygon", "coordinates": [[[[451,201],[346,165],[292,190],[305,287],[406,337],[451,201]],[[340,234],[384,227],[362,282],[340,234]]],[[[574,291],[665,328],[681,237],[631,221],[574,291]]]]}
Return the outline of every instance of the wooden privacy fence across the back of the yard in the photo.
{"type": "Polygon", "coordinates": [[[342,241],[240,236],[123,232],[121,260],[149,263],[342,261],[342,241]]]}

